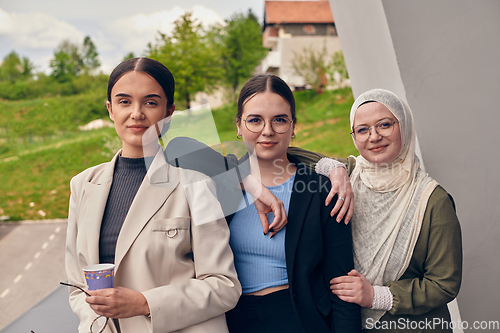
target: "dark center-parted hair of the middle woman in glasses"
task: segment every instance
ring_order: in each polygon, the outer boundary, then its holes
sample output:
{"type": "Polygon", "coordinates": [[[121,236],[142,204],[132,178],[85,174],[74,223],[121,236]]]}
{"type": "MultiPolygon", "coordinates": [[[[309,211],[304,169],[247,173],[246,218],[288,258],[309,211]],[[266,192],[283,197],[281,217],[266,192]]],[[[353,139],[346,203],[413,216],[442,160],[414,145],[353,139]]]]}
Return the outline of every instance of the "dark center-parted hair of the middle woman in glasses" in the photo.
{"type": "Polygon", "coordinates": [[[272,74],[254,76],[248,80],[245,85],[243,85],[240,96],[238,97],[238,113],[236,114],[236,122],[239,123],[241,121],[243,106],[245,106],[246,102],[248,102],[255,95],[266,91],[280,95],[290,105],[292,121],[294,124],[297,123],[297,117],[295,116],[295,98],[293,97],[292,90],[279,76],[272,74]]]}

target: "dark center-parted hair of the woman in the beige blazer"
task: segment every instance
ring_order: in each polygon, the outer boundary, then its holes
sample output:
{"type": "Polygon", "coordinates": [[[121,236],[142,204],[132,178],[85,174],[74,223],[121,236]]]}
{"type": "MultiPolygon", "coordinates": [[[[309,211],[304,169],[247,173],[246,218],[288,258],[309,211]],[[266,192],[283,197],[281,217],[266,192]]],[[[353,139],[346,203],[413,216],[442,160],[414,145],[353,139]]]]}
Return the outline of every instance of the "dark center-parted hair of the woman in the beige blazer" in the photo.
{"type": "Polygon", "coordinates": [[[113,69],[108,81],[108,101],[111,102],[111,90],[116,82],[125,74],[131,71],[143,72],[151,76],[163,88],[167,96],[167,108],[174,104],[175,80],[167,67],[161,62],[150,58],[132,58],[120,63],[113,69]]]}

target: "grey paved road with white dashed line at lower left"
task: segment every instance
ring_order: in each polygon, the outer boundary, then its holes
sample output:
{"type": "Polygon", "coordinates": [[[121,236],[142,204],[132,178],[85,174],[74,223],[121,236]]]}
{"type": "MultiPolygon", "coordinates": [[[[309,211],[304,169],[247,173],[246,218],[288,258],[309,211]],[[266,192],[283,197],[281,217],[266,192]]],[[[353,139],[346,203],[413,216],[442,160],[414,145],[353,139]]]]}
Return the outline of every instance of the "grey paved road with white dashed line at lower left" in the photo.
{"type": "Polygon", "coordinates": [[[0,330],[66,281],[66,226],[0,224],[0,330]]]}

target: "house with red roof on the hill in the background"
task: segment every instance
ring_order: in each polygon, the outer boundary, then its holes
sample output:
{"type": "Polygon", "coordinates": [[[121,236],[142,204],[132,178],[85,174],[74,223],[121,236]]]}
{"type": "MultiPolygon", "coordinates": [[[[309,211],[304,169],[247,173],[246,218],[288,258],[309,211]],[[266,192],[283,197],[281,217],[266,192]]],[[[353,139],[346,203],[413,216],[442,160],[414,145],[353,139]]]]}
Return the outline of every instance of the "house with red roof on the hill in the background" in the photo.
{"type": "Polygon", "coordinates": [[[262,71],[280,76],[293,88],[305,85],[293,72],[294,54],[304,48],[325,47],[329,55],[341,50],[327,0],[266,1],[262,43],[270,49],[262,71]]]}

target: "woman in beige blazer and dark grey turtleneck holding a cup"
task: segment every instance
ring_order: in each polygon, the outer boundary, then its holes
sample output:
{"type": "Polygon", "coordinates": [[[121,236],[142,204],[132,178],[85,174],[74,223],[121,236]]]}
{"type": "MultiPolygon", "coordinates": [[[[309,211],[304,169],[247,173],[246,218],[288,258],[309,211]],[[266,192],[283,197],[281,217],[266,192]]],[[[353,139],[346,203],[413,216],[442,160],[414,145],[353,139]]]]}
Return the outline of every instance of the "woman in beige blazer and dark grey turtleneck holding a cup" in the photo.
{"type": "Polygon", "coordinates": [[[213,184],[167,164],[158,145],[173,96],[172,74],[152,59],[111,73],[106,105],[122,149],[71,180],[66,272],[81,333],[227,332],[241,288],[213,184]],[[193,183],[196,207],[183,186],[193,183]],[[82,268],[98,263],[115,264],[115,288],[86,296],[82,268]],[[98,316],[113,320],[96,328],[98,316]]]}

